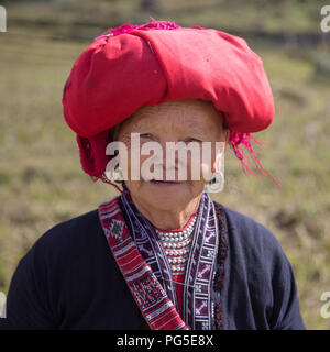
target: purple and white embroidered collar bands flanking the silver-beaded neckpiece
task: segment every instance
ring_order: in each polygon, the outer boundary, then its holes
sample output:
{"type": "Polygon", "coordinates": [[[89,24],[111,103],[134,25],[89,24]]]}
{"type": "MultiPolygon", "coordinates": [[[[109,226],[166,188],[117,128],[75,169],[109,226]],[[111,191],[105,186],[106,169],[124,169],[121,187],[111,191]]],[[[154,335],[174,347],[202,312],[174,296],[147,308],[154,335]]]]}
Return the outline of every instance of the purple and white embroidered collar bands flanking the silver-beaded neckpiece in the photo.
{"type": "MultiPolygon", "coordinates": [[[[139,252],[178,309],[172,268],[153,224],[138,210],[129,194],[120,197],[120,205],[139,252]]],[[[212,283],[219,248],[218,232],[215,205],[204,191],[196,215],[183,288],[183,319],[193,330],[215,329],[212,283]]]]}

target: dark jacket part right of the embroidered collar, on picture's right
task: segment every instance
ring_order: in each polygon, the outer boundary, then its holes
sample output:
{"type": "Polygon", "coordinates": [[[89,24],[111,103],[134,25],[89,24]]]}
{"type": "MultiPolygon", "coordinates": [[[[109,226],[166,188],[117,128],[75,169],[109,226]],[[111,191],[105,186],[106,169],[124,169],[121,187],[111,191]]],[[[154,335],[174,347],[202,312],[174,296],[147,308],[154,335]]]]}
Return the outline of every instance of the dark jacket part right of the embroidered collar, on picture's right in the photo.
{"type": "Polygon", "coordinates": [[[293,267],[263,224],[224,207],[229,253],[221,293],[230,330],[301,330],[293,267]]]}

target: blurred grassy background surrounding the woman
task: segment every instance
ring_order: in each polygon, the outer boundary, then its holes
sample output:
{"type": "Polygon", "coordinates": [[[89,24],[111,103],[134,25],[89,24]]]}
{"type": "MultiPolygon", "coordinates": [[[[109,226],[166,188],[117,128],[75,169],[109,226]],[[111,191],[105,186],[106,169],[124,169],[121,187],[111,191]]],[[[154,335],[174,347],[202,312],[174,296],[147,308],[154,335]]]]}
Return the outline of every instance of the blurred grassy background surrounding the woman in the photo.
{"type": "MultiPolygon", "coordinates": [[[[256,133],[266,176],[242,172],[229,151],[226,188],[212,197],[271,229],[296,275],[308,329],[330,292],[330,32],[319,0],[38,0],[1,1],[0,292],[19,260],[55,223],[117,194],[81,170],[62,92],[81,51],[110,28],[156,20],[215,28],[244,37],[264,62],[276,117],[256,133]]],[[[330,1],[329,3],[330,4],[330,1]]],[[[329,23],[330,25],[330,23],[329,23]]]]}

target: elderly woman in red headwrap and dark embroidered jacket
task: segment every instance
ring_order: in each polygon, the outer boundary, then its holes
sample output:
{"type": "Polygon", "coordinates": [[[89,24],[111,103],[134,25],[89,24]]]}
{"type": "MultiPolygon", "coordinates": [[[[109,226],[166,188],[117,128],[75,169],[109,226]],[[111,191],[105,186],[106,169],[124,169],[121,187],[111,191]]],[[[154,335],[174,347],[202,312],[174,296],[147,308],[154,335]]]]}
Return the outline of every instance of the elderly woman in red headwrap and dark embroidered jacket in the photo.
{"type": "Polygon", "coordinates": [[[109,30],[78,57],[63,105],[84,170],[113,184],[116,169],[123,189],[52,228],[21,260],[7,301],[10,328],[305,328],[275,237],[208,194],[210,183],[223,184],[227,145],[249,169],[245,146],[265,172],[251,133],[272,122],[273,96],[242,38],[165,21],[109,30]],[[223,147],[212,147],[209,162],[195,163],[188,151],[170,164],[170,142],[194,143],[199,156],[205,145],[223,147]],[[156,144],[164,153],[145,167],[143,148],[156,144]],[[196,167],[207,177],[193,177],[196,167]]]}

